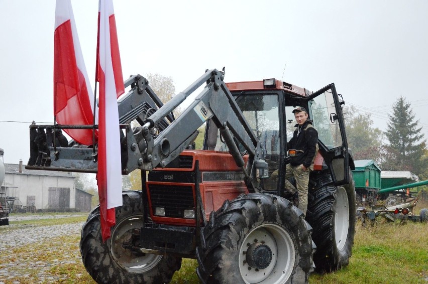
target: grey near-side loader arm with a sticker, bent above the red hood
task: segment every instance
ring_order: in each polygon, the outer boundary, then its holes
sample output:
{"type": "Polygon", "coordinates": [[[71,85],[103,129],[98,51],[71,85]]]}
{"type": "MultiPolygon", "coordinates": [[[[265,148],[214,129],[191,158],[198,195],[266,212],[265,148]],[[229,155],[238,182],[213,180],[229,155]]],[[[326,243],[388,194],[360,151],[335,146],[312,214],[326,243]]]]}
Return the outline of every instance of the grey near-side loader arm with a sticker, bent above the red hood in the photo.
{"type": "MultiPolygon", "coordinates": [[[[151,141],[152,136],[147,136],[146,143],[147,145],[153,143],[153,148],[148,147],[146,154],[143,154],[143,169],[150,171],[159,165],[165,167],[189,145],[190,141],[193,140],[193,135],[197,134],[197,128],[208,118],[211,118],[220,129],[236,161],[243,159],[227,130],[230,130],[235,138],[240,141],[248,151],[250,158],[254,157],[258,139],[223,82],[223,78],[224,73],[221,71],[207,71],[186,90],[174,96],[158,111],[148,117],[142,127],[143,133],[157,125],[167,113],[174,110],[188,95],[204,82],[207,82],[202,92],[184,110],[180,117],[162,131],[153,142],[151,141]]],[[[240,167],[243,166],[243,162],[237,162],[237,164],[242,164],[240,167]]]]}

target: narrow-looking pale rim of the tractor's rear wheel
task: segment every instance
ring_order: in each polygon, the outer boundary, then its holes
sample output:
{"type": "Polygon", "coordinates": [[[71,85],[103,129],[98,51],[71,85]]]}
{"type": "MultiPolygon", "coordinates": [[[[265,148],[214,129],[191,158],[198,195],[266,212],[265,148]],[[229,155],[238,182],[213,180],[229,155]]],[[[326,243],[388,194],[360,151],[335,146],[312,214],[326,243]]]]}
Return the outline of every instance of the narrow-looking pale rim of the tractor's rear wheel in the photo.
{"type": "Polygon", "coordinates": [[[339,250],[345,247],[349,230],[349,201],[346,189],[338,188],[336,197],[335,239],[339,250]]]}

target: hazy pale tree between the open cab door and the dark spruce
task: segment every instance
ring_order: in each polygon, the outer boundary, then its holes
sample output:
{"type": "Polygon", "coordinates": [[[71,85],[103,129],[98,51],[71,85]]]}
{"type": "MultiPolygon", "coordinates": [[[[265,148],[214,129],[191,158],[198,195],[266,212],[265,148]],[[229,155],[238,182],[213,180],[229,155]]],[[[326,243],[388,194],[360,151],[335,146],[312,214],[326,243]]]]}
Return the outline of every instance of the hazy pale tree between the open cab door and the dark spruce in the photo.
{"type": "Polygon", "coordinates": [[[383,133],[373,127],[370,113],[360,113],[355,106],[345,107],[346,137],[354,160],[379,162],[383,133]]]}

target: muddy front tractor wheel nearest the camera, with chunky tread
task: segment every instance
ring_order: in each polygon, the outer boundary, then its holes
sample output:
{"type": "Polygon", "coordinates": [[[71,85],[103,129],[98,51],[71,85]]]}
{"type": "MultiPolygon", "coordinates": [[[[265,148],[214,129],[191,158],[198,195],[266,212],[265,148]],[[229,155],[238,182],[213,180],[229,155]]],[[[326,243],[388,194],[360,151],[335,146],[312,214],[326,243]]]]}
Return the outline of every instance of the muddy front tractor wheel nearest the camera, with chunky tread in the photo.
{"type": "Polygon", "coordinates": [[[211,213],[198,250],[204,283],[307,283],[314,246],[302,212],[271,194],[239,196],[211,213]]]}

